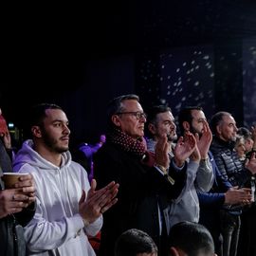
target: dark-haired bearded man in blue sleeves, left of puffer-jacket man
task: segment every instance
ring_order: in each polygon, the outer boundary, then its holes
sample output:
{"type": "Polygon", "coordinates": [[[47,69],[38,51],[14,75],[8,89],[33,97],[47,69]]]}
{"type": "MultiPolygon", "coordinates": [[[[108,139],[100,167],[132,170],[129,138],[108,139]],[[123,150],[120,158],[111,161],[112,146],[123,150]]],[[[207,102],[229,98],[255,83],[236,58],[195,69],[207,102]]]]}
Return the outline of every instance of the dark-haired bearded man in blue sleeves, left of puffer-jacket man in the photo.
{"type": "MultiPolygon", "coordinates": [[[[182,131],[190,131],[192,134],[198,134],[199,137],[202,137],[204,126],[208,126],[208,124],[201,107],[185,107],[181,110],[179,117],[180,123],[182,124],[180,129],[182,131]]],[[[213,169],[214,183],[210,192],[197,191],[200,203],[199,222],[210,230],[215,245],[215,252],[221,256],[222,239],[220,236],[219,210],[225,205],[242,204],[244,200],[250,198],[250,195],[247,190],[232,188],[229,181],[225,180],[220,174],[210,151],[208,152],[208,157],[213,169]]]]}

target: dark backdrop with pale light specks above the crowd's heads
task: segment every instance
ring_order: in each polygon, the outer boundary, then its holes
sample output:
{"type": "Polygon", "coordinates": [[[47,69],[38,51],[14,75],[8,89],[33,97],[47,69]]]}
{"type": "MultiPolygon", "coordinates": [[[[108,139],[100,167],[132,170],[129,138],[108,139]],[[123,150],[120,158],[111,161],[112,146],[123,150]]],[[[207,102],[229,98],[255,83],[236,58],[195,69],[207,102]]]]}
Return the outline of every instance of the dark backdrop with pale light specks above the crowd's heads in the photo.
{"type": "Polygon", "coordinates": [[[145,109],[186,104],[255,120],[254,1],[98,1],[1,8],[0,106],[19,128],[27,108],[56,102],[73,142],[105,130],[105,106],[137,93],[145,109]]]}

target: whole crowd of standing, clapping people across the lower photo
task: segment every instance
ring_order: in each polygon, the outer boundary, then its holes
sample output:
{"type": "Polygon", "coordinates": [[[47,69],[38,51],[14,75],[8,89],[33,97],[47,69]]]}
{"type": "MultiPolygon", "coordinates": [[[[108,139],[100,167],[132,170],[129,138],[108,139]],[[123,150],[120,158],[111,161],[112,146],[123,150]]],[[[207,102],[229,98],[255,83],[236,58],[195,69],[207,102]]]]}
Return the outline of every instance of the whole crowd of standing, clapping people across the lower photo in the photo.
{"type": "Polygon", "coordinates": [[[110,101],[106,115],[84,164],[60,106],[31,108],[30,138],[15,155],[0,113],[1,175],[27,174],[11,189],[1,180],[1,255],[256,255],[256,128],[238,129],[224,111],[208,122],[190,106],[177,132],[170,107],[146,114],[134,94],[110,101]]]}

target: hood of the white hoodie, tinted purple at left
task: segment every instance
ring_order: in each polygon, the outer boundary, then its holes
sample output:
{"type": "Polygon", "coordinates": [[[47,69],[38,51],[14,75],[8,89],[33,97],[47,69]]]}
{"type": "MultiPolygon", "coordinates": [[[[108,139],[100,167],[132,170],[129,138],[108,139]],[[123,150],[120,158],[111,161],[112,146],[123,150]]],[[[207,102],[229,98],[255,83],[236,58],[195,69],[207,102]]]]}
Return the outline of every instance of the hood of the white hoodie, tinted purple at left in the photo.
{"type": "Polygon", "coordinates": [[[36,168],[52,171],[67,167],[70,165],[70,163],[71,155],[69,151],[66,151],[62,154],[62,164],[61,167],[59,167],[47,161],[44,157],[34,151],[33,141],[31,139],[27,139],[23,143],[22,148],[18,151],[17,155],[15,155],[13,168],[14,170],[19,170],[24,164],[29,164],[36,168]]]}

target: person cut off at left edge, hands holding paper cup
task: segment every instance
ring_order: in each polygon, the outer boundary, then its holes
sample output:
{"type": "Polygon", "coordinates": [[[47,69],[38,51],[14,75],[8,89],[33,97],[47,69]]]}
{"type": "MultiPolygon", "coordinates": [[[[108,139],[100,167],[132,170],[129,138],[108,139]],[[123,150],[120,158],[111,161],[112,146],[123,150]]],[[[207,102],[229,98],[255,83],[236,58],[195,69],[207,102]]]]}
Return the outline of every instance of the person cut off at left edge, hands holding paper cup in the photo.
{"type": "MultiPolygon", "coordinates": [[[[1,114],[0,114],[1,115],[1,114]]],[[[9,132],[1,133],[0,176],[12,173],[11,161],[6,150],[9,132]]],[[[25,256],[26,243],[23,228],[35,212],[35,188],[32,175],[20,178],[13,189],[5,189],[0,179],[0,254],[1,256],[25,256]]]]}

